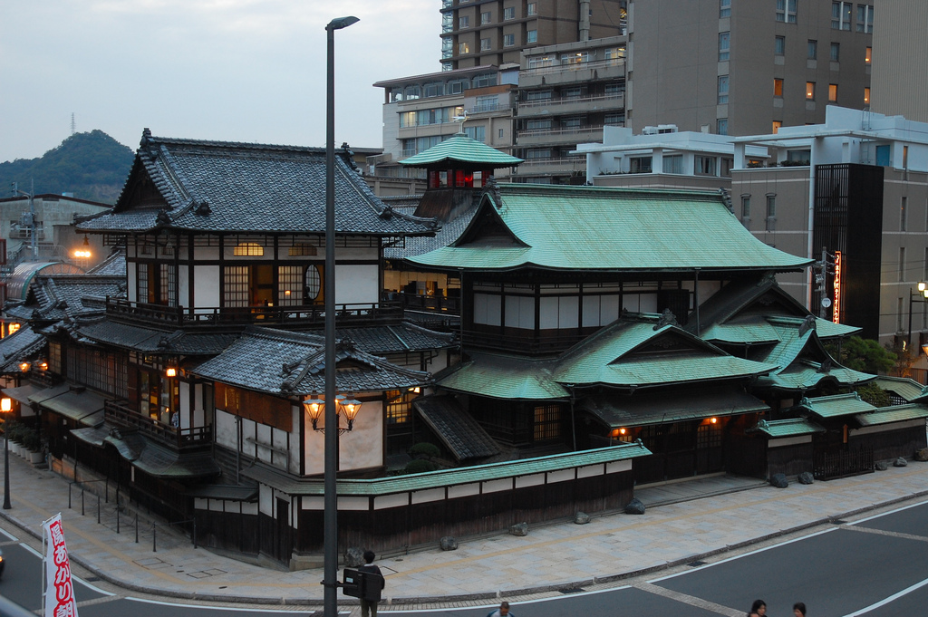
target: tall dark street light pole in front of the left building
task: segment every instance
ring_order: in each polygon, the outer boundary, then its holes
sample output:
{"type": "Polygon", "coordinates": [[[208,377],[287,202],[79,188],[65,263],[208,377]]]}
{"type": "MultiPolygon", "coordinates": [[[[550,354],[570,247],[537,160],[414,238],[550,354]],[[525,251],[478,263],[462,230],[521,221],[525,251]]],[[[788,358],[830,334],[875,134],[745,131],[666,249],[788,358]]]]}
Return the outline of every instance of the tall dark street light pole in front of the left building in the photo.
{"type": "Polygon", "coordinates": [[[332,19],[326,26],[326,265],[323,294],[326,309],[325,353],[325,479],[323,511],[323,615],[338,617],[338,410],[335,408],[335,31],[357,22],[356,17],[332,19]]]}

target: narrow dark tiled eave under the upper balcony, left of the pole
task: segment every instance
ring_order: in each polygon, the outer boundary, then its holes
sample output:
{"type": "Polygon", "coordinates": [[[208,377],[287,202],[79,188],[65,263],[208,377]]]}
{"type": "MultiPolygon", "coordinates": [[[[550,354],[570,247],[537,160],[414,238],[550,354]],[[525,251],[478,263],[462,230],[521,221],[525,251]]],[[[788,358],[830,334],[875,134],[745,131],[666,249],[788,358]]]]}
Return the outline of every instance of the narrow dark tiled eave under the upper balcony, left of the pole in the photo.
{"type": "Polygon", "coordinates": [[[108,318],[78,324],[80,336],[97,341],[149,353],[182,353],[185,355],[213,355],[220,353],[238,338],[226,332],[186,332],[159,330],[123,324],[108,318]]]}

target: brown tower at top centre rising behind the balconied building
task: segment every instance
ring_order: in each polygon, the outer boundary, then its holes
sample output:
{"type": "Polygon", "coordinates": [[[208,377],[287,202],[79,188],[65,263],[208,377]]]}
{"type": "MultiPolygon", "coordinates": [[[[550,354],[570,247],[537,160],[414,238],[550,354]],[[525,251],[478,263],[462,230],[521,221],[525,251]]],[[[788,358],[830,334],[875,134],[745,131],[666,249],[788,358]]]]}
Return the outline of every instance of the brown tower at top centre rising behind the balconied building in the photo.
{"type": "Polygon", "coordinates": [[[625,33],[627,0],[443,0],[442,70],[519,62],[523,49],[625,33]]]}

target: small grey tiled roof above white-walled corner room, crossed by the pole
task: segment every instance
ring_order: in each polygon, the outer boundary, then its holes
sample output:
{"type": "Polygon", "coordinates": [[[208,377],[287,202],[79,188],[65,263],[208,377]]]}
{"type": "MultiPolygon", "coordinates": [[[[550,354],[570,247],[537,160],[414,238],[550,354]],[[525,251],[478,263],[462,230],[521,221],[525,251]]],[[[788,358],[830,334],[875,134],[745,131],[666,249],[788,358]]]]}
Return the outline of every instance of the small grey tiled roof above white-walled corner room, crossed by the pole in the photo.
{"type": "MultiPolygon", "coordinates": [[[[325,390],[324,339],[273,328],[247,328],[223,353],[192,372],[206,379],[278,395],[325,390]]],[[[340,392],[403,390],[429,382],[428,373],[393,365],[339,341],[336,387],[340,392]]]]}

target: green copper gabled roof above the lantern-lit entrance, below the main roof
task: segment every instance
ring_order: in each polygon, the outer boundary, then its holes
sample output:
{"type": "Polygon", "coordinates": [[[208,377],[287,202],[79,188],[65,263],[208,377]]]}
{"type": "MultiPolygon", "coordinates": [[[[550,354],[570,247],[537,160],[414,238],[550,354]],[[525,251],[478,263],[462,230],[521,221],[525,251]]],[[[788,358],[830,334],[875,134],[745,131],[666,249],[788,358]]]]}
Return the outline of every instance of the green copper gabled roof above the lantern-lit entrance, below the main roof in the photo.
{"type": "Polygon", "coordinates": [[[576,345],[558,363],[554,378],[561,383],[649,386],[754,376],[776,367],[728,355],[672,326],[654,330],[651,323],[623,323],[576,345]]]}

